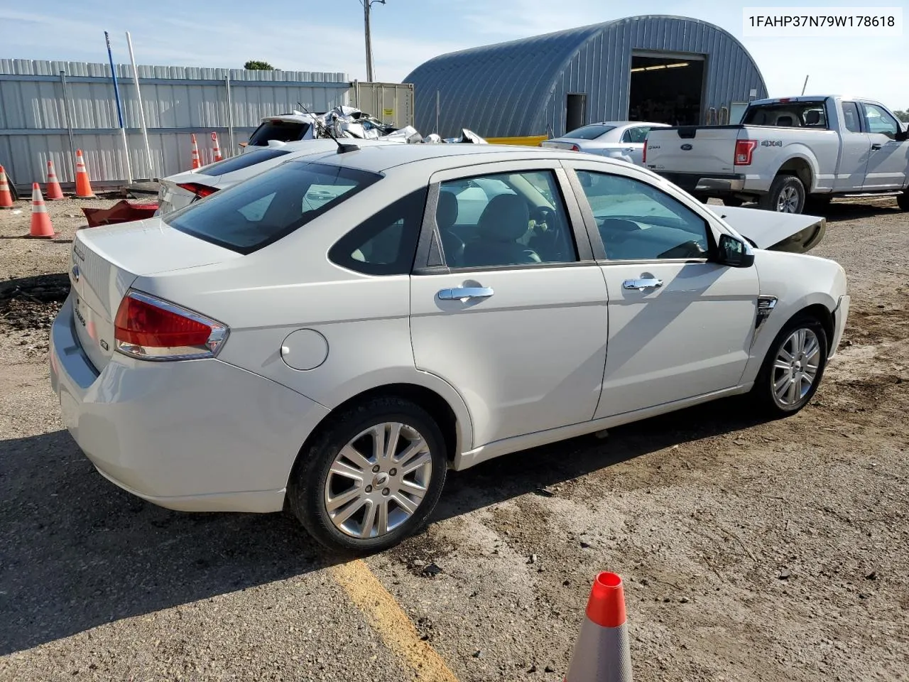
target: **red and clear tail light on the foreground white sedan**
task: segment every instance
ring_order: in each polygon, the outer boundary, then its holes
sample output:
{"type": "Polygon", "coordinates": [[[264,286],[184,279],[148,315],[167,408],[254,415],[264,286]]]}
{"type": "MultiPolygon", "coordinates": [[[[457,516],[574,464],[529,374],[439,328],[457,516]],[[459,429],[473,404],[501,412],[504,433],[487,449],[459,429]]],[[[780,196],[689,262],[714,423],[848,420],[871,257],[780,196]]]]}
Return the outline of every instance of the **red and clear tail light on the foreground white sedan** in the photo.
{"type": "Polygon", "coordinates": [[[138,291],[129,291],[114,320],[116,349],[143,360],[214,357],[227,338],[220,322],[138,291]]]}

